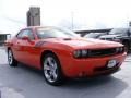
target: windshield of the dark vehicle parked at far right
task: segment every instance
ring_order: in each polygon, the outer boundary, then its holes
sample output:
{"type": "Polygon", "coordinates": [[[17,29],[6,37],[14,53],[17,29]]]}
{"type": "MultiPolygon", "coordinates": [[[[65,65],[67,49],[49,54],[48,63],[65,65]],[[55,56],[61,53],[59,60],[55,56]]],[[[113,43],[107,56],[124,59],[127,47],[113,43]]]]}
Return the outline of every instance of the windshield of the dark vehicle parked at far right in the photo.
{"type": "Polygon", "coordinates": [[[115,28],[109,32],[109,35],[122,35],[128,32],[128,28],[115,28]]]}

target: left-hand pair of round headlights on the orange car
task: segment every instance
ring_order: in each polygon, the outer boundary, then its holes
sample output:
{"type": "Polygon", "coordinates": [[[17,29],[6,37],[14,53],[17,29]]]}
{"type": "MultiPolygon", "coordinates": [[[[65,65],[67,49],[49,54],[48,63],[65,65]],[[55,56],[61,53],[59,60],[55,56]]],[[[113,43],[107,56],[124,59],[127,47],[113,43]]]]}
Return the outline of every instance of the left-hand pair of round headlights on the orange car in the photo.
{"type": "Polygon", "coordinates": [[[87,50],[75,50],[73,52],[73,57],[74,58],[86,58],[88,54],[88,51],[87,50]]]}

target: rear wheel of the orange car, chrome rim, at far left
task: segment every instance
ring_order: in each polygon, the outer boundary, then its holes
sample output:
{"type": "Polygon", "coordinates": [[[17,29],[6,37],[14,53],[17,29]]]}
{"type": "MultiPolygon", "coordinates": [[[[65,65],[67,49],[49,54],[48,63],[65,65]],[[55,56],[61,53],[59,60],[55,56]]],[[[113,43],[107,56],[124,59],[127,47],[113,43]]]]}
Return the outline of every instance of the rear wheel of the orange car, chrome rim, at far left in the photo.
{"type": "Polygon", "coordinates": [[[13,57],[12,50],[8,50],[8,62],[10,66],[17,66],[17,61],[13,57]]]}

